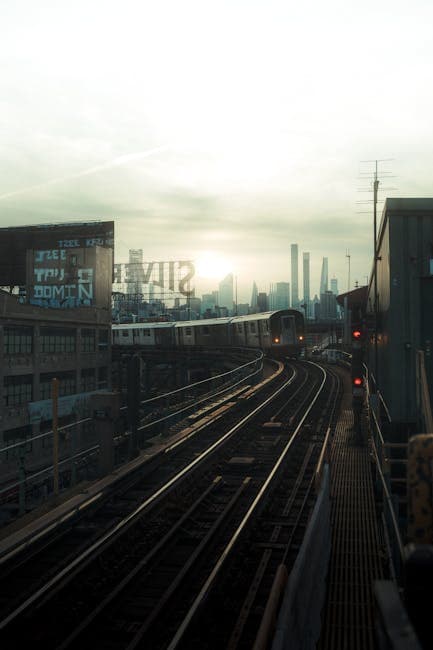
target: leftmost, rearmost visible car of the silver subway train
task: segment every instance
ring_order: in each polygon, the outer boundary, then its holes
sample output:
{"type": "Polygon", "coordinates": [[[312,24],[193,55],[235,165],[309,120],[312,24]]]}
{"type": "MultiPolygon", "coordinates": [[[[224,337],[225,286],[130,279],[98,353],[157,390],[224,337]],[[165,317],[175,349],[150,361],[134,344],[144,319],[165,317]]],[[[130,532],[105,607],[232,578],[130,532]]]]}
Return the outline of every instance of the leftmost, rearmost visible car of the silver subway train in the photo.
{"type": "Polygon", "coordinates": [[[175,323],[126,323],[113,325],[113,345],[170,347],[175,345],[175,323]]]}

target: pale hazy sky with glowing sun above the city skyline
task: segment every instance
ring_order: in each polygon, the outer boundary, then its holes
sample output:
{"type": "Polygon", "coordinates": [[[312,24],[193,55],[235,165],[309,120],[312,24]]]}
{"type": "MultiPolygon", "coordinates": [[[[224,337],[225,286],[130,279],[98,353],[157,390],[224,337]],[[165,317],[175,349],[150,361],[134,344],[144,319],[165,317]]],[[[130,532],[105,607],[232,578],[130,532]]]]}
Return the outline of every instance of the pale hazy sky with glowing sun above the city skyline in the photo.
{"type": "MultiPolygon", "coordinates": [[[[115,257],[340,291],[372,265],[370,172],[432,196],[430,0],[1,0],[0,226],[115,220],[115,257]],[[208,260],[206,266],[206,260],[208,260]],[[302,283],[300,263],[300,283],[302,283]]],[[[379,205],[379,213],[381,205],[379,205]]],[[[202,276],[211,275],[205,278],[202,276]]]]}

